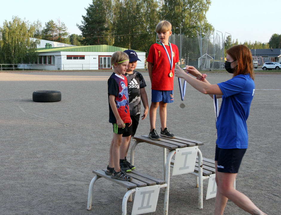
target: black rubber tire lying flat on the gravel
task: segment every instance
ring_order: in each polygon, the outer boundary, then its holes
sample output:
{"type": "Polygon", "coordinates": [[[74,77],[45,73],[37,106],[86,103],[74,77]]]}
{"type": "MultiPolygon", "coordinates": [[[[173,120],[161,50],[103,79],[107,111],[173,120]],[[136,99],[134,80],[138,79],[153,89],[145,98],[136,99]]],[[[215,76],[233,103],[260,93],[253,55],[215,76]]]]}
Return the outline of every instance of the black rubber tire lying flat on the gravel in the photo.
{"type": "Polygon", "coordinates": [[[60,91],[42,90],[32,94],[33,102],[59,102],[62,100],[60,91]]]}

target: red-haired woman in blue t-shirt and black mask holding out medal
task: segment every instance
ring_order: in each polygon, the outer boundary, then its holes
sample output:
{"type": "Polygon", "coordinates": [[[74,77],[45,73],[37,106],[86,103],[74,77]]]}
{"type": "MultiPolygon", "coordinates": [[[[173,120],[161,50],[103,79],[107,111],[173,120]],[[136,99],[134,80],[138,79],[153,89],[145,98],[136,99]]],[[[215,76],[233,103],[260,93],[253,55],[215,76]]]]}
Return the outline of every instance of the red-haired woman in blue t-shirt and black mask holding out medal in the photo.
{"type": "Polygon", "coordinates": [[[192,87],[212,98],[222,98],[216,122],[217,140],[215,152],[216,203],[215,215],[222,215],[230,199],[237,206],[253,215],[266,215],[243,193],[233,187],[242,158],[248,148],[246,120],[255,92],[252,55],[245,45],[236,45],[226,51],[225,69],[233,77],[219,84],[211,85],[205,74],[192,66],[186,66],[185,73],[178,65],[175,76],[185,79],[192,87]]]}

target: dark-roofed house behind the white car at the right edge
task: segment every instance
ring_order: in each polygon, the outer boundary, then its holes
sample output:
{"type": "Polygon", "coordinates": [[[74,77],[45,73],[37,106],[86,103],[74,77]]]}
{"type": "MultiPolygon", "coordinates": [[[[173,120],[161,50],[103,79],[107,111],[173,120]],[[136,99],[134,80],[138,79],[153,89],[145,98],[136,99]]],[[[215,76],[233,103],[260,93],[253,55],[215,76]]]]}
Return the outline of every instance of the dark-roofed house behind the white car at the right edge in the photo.
{"type": "Polygon", "coordinates": [[[257,60],[259,65],[266,62],[280,62],[281,49],[251,49],[253,60],[257,60]]]}

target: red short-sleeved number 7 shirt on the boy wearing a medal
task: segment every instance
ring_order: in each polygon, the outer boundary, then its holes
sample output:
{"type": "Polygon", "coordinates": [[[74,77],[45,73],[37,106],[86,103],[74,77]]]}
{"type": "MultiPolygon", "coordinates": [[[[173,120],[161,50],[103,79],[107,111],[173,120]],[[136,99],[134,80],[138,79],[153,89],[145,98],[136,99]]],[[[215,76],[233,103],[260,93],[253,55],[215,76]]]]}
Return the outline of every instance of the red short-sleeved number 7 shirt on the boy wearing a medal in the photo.
{"type": "MultiPolygon", "coordinates": [[[[169,76],[171,72],[170,62],[167,53],[161,44],[152,44],[148,53],[147,62],[153,64],[152,69],[152,90],[173,90],[175,63],[179,62],[179,50],[174,44],[171,44],[173,52],[173,77],[169,76]]],[[[171,59],[171,50],[169,45],[165,45],[171,59]]]]}

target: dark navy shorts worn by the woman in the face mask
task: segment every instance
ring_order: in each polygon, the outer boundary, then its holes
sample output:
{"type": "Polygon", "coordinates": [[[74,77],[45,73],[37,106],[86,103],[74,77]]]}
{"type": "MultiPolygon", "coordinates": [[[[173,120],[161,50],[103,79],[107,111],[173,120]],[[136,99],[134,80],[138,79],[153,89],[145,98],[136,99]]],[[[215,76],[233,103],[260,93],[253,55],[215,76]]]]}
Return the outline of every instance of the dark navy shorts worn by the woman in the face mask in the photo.
{"type": "Polygon", "coordinates": [[[216,145],[215,161],[218,172],[238,173],[242,158],[247,149],[221,149],[216,145]]]}

